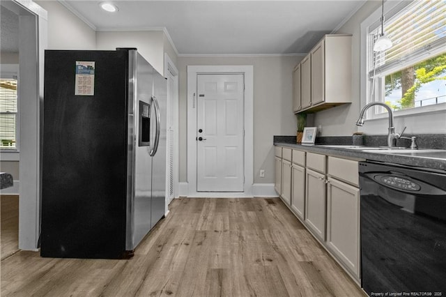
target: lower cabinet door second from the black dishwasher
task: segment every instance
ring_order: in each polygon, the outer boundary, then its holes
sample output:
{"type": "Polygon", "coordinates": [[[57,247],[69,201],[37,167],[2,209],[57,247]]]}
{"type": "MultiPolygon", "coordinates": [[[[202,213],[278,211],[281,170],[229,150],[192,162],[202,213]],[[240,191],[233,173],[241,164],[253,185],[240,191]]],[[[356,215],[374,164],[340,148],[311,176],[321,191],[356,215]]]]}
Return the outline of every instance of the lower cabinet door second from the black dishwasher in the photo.
{"type": "Polygon", "coordinates": [[[325,241],[325,175],[307,169],[305,222],[314,236],[325,241]]]}

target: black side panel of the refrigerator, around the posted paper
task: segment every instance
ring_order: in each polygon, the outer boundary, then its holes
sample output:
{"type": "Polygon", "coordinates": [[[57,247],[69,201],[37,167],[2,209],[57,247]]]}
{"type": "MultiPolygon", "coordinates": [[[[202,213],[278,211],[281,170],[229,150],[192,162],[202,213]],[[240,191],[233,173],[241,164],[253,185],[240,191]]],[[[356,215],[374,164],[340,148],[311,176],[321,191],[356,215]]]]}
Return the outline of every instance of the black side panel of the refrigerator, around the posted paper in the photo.
{"type": "Polygon", "coordinates": [[[45,52],[42,257],[123,257],[127,68],[126,51],[45,52]],[[95,62],[93,96],[76,61],[95,62]]]}

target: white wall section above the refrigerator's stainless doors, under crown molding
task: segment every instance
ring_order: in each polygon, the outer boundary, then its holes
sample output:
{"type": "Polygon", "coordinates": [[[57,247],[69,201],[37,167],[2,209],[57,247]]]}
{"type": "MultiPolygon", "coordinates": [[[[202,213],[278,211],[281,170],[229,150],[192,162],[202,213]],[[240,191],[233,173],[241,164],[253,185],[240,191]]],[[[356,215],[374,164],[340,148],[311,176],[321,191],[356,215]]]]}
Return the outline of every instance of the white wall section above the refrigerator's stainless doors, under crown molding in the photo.
{"type": "MultiPolygon", "coordinates": [[[[138,52],[159,73],[164,73],[163,31],[98,31],[97,50],[115,50],[116,47],[137,47],[138,52]]],[[[176,57],[171,57],[174,61],[176,57]]]]}

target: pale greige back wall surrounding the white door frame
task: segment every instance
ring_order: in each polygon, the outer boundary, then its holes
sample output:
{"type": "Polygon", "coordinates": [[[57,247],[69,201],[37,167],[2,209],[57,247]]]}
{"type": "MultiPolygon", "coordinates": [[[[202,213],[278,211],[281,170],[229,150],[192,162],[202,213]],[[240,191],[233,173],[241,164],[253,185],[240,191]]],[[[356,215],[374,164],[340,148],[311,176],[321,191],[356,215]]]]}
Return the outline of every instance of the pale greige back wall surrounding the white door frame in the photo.
{"type": "Polygon", "coordinates": [[[273,135],[295,135],[293,114],[294,66],[302,56],[179,56],[180,182],[187,181],[187,66],[254,66],[254,183],[274,182],[273,135]],[[265,169],[265,178],[259,170],[265,169]]]}

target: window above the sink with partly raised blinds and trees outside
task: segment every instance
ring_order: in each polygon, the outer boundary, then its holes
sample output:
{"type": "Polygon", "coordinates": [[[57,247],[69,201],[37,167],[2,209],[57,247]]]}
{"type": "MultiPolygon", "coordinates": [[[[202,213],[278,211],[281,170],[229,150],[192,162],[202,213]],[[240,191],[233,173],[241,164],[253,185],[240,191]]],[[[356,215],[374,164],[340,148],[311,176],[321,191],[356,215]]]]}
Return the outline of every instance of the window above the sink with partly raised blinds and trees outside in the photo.
{"type": "MultiPolygon", "coordinates": [[[[390,49],[373,51],[380,20],[376,14],[368,19],[374,23],[367,27],[367,102],[385,102],[395,115],[445,109],[446,1],[389,2],[384,32],[392,40],[390,49]]],[[[369,116],[380,113],[385,109],[376,107],[369,116]]]]}

